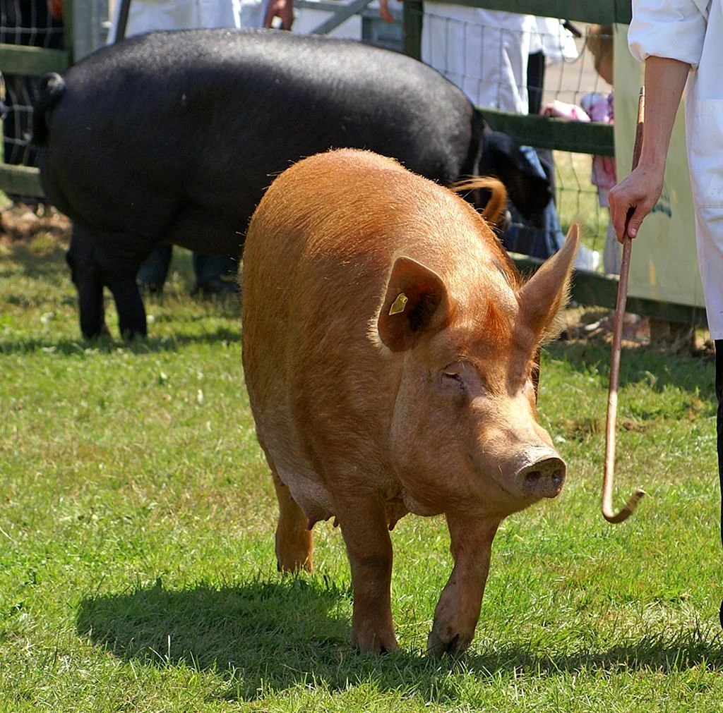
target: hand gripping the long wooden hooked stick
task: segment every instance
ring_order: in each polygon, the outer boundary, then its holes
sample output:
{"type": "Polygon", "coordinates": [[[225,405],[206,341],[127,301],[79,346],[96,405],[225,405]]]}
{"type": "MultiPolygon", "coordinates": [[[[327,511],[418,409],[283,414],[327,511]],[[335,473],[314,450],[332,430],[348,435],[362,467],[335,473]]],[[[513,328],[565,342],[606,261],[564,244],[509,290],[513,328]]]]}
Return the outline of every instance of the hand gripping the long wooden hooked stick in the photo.
{"type": "Polygon", "coordinates": [[[608,194],[610,217],[615,235],[620,243],[625,238],[625,225],[628,235],[635,238],[640,230],[643,218],[651,212],[663,190],[664,167],[638,165],[630,176],[613,186],[608,194]],[[630,213],[630,220],[628,220],[630,213]]]}

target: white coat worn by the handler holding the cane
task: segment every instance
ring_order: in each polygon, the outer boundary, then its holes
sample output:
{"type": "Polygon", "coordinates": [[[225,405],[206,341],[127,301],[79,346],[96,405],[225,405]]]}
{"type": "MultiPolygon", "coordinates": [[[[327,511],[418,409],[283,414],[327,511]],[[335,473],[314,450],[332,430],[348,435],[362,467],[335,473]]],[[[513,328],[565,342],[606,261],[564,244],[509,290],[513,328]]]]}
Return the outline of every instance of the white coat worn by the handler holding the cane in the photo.
{"type": "Polygon", "coordinates": [[[633,0],[633,56],[687,62],[685,135],[698,268],[714,340],[723,339],[723,0],[633,0]]]}

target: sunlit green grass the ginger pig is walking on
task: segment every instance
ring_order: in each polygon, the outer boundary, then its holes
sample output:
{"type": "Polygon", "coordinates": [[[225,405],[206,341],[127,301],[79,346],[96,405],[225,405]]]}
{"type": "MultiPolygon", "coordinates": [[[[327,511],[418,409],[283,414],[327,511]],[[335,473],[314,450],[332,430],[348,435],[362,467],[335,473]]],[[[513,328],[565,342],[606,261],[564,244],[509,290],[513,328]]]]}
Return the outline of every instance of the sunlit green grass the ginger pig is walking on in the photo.
{"type": "Polygon", "coordinates": [[[0,250],[0,711],[723,709],[709,360],[624,351],[615,500],[649,496],[610,526],[608,349],[550,345],[568,483],[502,524],[468,654],[424,655],[448,535],[408,516],[401,652],[362,656],[338,530],[315,528],[315,574],[275,571],[233,304],[190,298],[184,258],[147,341],[89,344],[55,244],[0,250]]]}

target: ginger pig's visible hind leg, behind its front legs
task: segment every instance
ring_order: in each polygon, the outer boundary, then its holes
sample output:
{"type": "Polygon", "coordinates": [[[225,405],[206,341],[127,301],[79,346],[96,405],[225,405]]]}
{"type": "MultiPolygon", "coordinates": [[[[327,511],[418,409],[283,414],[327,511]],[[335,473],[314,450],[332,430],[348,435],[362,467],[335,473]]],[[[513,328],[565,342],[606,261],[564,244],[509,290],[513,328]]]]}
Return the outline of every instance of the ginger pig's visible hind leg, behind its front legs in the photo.
{"type": "Polygon", "coordinates": [[[301,569],[312,571],[314,536],[309,530],[309,519],[291,496],[291,491],[278,477],[273,460],[267,456],[273,474],[273,484],[278,499],[278,524],[276,526],[276,565],[281,572],[301,569]]]}

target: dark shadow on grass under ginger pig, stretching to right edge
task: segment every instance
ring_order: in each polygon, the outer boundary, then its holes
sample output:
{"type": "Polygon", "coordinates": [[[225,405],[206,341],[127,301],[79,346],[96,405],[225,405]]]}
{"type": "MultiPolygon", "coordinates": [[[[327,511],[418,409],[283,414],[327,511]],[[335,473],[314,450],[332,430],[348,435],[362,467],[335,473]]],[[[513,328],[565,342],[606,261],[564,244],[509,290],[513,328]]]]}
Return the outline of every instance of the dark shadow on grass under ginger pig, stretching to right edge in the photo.
{"type": "Polygon", "coordinates": [[[703,662],[723,667],[720,637],[695,631],[551,656],[515,644],[442,662],[419,650],[361,655],[349,644],[350,610],[351,591],[318,576],[179,591],[156,585],[83,600],[77,631],[122,660],[220,673],[221,690],[210,697],[233,701],[262,699],[310,681],[334,692],[346,690],[350,680],[368,680],[380,691],[411,688],[425,701],[453,704],[459,694],[457,676],[450,675],[455,670],[492,682],[498,673],[515,677],[521,671],[544,678],[583,668],[668,673],[703,662]]]}

